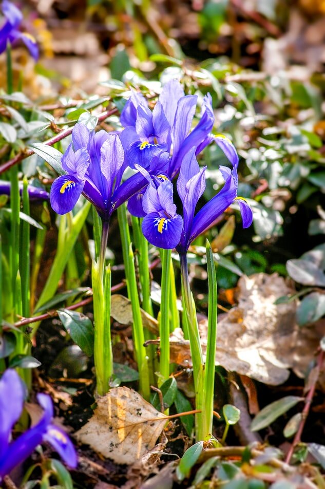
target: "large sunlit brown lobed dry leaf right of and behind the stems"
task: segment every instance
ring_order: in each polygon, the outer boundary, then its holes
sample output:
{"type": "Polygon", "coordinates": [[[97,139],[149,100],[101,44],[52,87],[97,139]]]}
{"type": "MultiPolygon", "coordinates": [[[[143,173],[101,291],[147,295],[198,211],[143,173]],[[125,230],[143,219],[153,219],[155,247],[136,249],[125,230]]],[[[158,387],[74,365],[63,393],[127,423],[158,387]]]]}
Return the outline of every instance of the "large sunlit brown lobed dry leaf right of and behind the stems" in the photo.
{"type": "MultiPolygon", "coordinates": [[[[285,280],[277,274],[258,273],[241,277],[238,290],[238,306],[218,323],[216,365],[270,385],[285,382],[289,368],[303,376],[323,331],[299,328],[294,302],[274,304],[293,292],[285,280]]],[[[205,353],[207,319],[200,321],[199,329],[205,353]]],[[[180,335],[177,331],[171,339],[170,356],[188,367],[189,344],[180,335]]]]}

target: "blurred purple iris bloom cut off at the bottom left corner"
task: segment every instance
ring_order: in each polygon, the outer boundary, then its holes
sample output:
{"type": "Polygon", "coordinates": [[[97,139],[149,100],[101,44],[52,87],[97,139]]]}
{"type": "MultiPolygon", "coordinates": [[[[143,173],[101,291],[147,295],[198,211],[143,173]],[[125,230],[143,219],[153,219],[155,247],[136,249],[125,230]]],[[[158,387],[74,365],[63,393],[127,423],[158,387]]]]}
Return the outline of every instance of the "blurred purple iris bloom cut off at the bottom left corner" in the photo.
{"type": "Polygon", "coordinates": [[[0,380],[0,482],[12,469],[26,460],[37,445],[49,442],[70,467],[77,466],[77,455],[66,433],[51,424],[53,404],[47,394],[37,394],[44,409],[41,420],[10,442],[11,430],[23,411],[25,387],[13,369],[8,369],[0,380]]]}

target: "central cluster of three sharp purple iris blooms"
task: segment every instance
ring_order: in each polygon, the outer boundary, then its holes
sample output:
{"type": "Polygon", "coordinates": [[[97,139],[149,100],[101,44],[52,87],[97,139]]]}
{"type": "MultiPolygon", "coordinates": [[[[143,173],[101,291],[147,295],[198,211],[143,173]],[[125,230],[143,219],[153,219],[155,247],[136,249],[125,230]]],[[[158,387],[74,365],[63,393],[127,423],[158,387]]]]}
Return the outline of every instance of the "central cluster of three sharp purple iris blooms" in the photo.
{"type": "Polygon", "coordinates": [[[243,226],[252,223],[252,211],[237,197],[238,155],[232,142],[214,136],[212,99],[207,94],[201,118],[192,129],[197,96],[185,96],[181,84],[168,82],[151,111],[147,100],[132,92],[122,114],[120,134],[89,131],[76,124],[72,142],[62,159],[67,172],[51,188],[54,211],[65,214],[81,193],[90,200],[100,217],[108,221],[114,209],[128,200],[128,209],[144,217],[142,230],[149,242],[161,248],[186,252],[189,244],[206,230],[229,205],[238,199],[243,226]],[[221,191],[195,215],[205,189],[205,167],[196,156],[211,142],[222,149],[232,168],[221,166],[221,191]],[[122,183],[126,167],[137,173],[122,183]],[[183,216],[176,213],[171,180],[178,175],[177,190],[183,216]]]}

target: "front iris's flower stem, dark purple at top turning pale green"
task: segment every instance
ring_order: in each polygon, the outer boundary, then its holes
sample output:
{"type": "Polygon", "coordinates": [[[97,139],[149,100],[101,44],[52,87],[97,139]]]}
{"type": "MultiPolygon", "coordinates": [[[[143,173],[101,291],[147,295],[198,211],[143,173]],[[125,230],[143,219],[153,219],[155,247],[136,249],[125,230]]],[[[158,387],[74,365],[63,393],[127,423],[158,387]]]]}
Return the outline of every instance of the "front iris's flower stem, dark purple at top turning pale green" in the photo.
{"type": "MultiPolygon", "coordinates": [[[[181,278],[182,278],[182,293],[183,304],[185,308],[185,321],[188,329],[190,352],[193,362],[193,378],[195,387],[195,403],[196,409],[203,410],[203,383],[204,383],[204,366],[203,354],[200,342],[199,327],[196,317],[195,303],[192,292],[190,290],[188,271],[187,271],[187,255],[180,254],[181,278]]],[[[195,432],[196,441],[203,440],[205,434],[202,426],[202,414],[198,413],[195,417],[195,432]]]]}

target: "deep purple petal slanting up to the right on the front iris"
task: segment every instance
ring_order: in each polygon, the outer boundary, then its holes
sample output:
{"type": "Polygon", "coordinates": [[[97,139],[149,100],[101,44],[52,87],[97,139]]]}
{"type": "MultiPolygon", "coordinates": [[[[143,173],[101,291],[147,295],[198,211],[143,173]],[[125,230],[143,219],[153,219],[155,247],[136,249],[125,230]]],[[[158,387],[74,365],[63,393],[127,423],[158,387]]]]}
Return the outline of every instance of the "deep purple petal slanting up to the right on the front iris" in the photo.
{"type": "MultiPolygon", "coordinates": [[[[226,177],[225,184],[220,192],[203,205],[202,209],[194,217],[187,246],[203,233],[203,231],[205,231],[209,225],[211,225],[213,221],[234,202],[237,196],[236,176],[230,168],[220,167],[220,170],[221,168],[222,175],[226,177]]],[[[234,170],[236,170],[236,168],[234,168],[234,170]]]]}

